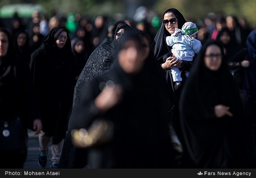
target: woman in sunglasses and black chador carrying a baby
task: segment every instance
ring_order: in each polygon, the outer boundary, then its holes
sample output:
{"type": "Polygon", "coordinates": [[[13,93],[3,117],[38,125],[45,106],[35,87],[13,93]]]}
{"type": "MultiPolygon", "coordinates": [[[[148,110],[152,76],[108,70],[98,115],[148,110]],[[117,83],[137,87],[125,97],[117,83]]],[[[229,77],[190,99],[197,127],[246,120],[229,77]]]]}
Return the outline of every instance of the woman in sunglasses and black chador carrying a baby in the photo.
{"type": "MultiPolygon", "coordinates": [[[[171,120],[171,125],[175,129],[175,132],[179,139],[182,139],[179,132],[179,114],[178,114],[178,100],[180,96],[180,91],[183,87],[183,84],[179,86],[177,90],[174,89],[175,83],[172,79],[172,73],[171,68],[178,67],[183,71],[188,71],[189,67],[191,66],[190,61],[182,61],[177,59],[174,55],[171,53],[172,46],[168,46],[166,44],[166,37],[172,35],[175,32],[175,29],[182,29],[182,26],[186,23],[185,18],[175,8],[167,9],[163,13],[163,23],[157,32],[153,44],[151,46],[151,50],[154,52],[154,56],[156,57],[159,66],[163,69],[165,72],[166,77],[166,83],[167,87],[169,89],[169,100],[170,100],[170,106],[169,106],[169,118],[171,120]]],[[[181,78],[183,78],[183,81],[186,80],[185,72],[181,73],[181,78]]],[[[183,82],[183,83],[184,83],[183,82]]],[[[174,132],[173,132],[174,133],[174,132]]]]}

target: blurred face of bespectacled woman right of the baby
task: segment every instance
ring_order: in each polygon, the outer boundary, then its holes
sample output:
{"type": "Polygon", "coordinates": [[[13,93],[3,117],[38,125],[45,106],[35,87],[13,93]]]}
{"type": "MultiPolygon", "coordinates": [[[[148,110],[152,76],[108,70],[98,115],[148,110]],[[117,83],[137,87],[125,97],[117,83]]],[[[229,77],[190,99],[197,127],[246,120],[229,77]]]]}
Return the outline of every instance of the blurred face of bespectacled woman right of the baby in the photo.
{"type": "Polygon", "coordinates": [[[221,66],[221,62],[221,49],[216,45],[208,46],[204,55],[205,66],[212,71],[217,71],[221,66]]]}

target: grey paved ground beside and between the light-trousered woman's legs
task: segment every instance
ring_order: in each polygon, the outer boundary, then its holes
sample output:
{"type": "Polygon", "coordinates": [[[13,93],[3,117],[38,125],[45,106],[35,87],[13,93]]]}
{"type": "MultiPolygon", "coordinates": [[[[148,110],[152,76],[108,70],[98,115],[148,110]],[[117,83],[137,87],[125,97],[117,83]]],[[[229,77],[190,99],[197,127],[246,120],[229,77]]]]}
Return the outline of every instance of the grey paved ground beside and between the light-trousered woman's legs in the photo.
{"type": "Polygon", "coordinates": [[[29,140],[28,140],[28,154],[27,159],[23,168],[32,168],[32,169],[46,169],[51,168],[51,143],[49,143],[49,151],[47,156],[47,166],[42,168],[38,165],[38,156],[39,156],[39,141],[38,135],[34,135],[34,132],[28,130],[29,140]]]}

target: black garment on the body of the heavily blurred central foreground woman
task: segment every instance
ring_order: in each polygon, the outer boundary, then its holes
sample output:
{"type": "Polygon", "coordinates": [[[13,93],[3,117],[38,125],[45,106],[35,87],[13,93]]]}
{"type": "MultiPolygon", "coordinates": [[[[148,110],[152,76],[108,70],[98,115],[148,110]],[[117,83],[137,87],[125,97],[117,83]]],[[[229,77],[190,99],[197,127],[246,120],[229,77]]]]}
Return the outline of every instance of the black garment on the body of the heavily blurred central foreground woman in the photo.
{"type": "Polygon", "coordinates": [[[96,118],[110,120],[114,126],[111,143],[89,149],[89,153],[99,152],[98,167],[89,159],[92,168],[172,168],[174,151],[166,120],[166,83],[156,63],[150,54],[141,72],[129,75],[115,60],[109,72],[84,90],[71,128],[87,128],[96,118]],[[90,108],[101,92],[99,84],[109,80],[122,87],[122,101],[97,115],[90,108]]]}

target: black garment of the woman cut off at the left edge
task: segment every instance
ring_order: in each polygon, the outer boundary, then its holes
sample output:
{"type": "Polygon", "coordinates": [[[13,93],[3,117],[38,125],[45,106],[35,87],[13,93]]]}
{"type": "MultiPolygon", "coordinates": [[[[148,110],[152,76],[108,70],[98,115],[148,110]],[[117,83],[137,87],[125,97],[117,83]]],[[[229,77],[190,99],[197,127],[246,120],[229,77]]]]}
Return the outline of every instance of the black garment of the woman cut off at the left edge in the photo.
{"type": "MultiPolygon", "coordinates": [[[[27,80],[28,78],[21,78],[20,72],[17,70],[17,59],[10,34],[2,28],[0,28],[0,32],[7,35],[9,42],[7,54],[0,57],[1,124],[2,121],[20,118],[23,131],[27,135],[27,129],[33,130],[32,124],[35,119],[39,118],[39,111],[36,108],[32,87],[29,85],[30,81],[27,80]]],[[[23,168],[27,149],[3,150],[0,146],[0,152],[2,153],[0,168],[23,168]],[[15,158],[15,161],[10,158],[15,158]]]]}

